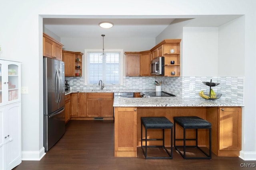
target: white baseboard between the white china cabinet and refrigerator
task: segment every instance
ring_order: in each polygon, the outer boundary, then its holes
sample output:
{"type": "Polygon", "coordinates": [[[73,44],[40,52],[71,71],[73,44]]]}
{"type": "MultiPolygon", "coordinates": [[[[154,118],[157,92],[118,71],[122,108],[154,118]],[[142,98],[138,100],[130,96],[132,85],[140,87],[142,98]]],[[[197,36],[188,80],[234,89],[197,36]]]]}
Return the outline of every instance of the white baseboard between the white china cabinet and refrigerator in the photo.
{"type": "Polygon", "coordinates": [[[41,160],[45,154],[44,147],[39,151],[22,151],[21,160],[41,160]]]}

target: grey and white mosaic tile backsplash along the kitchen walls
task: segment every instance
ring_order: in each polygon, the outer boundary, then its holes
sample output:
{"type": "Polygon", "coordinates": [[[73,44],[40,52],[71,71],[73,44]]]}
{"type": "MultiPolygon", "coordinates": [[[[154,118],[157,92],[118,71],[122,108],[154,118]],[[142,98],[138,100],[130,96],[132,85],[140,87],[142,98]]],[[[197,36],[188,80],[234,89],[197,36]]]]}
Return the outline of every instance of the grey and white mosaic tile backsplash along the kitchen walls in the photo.
{"type": "MultiPolygon", "coordinates": [[[[92,90],[100,89],[100,86],[84,86],[84,77],[65,77],[69,81],[70,87],[74,90],[92,90]]],[[[154,90],[154,81],[162,81],[162,90],[180,96],[181,98],[201,98],[199,92],[205,90],[210,91],[210,87],[202,82],[220,83],[212,89],[221,93],[219,100],[244,103],[244,77],[164,77],[164,76],[145,76],[145,77],[124,77],[123,86],[105,86],[104,89],[126,91],[134,90],[140,92],[145,90],[154,90]]]]}

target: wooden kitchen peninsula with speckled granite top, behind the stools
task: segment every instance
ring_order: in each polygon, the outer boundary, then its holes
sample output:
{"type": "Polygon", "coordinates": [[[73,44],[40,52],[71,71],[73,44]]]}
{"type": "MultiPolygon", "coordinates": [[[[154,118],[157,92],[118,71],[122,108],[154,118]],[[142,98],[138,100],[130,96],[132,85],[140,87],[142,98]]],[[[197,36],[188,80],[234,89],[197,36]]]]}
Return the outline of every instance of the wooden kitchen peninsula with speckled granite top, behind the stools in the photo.
{"type": "MultiPolygon", "coordinates": [[[[174,116],[198,116],[212,123],[212,152],[217,156],[239,156],[242,133],[242,104],[224,100],[206,101],[179,97],[115,98],[115,147],[116,157],[136,157],[140,146],[140,117],[165,116],[173,122],[174,116]]],[[[156,129],[148,135],[156,136],[156,129]],[[154,131],[155,130],[155,131],[154,131]]],[[[176,129],[182,137],[181,128],[176,129]]],[[[195,132],[189,131],[188,138],[195,132]]],[[[198,145],[208,147],[205,129],[198,129],[198,145]]],[[[170,131],[165,131],[166,145],[170,146],[170,131]],[[169,139],[169,140],[168,140],[169,139]]],[[[154,141],[156,142],[156,141],[154,141]]],[[[189,142],[192,141],[188,141],[189,142]]],[[[181,145],[181,144],[178,144],[181,145]]]]}

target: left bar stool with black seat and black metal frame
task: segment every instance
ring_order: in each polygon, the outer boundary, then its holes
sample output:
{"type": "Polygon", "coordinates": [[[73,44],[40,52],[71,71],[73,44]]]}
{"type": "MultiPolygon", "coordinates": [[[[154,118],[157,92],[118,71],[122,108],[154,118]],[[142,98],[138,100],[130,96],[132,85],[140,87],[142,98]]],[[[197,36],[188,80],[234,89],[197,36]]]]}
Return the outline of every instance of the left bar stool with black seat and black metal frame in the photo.
{"type": "Polygon", "coordinates": [[[141,148],[144,153],[144,156],[146,159],[172,159],[172,127],[173,123],[169,121],[166,117],[141,117],[141,148]],[[142,139],[142,125],[145,127],[145,139],[142,139]],[[163,131],[163,137],[161,139],[148,139],[147,137],[147,131],[148,129],[162,129],[163,131]],[[164,129],[171,129],[171,152],[169,152],[165,145],[164,145],[164,129]],[[142,141],[145,141],[145,145],[142,145],[142,141]],[[148,145],[148,141],[163,141],[163,145],[148,145]],[[148,147],[158,147],[163,148],[167,154],[168,157],[156,157],[156,156],[150,156],[148,157],[148,147]],[[145,148],[145,151],[144,149],[145,148]]]}

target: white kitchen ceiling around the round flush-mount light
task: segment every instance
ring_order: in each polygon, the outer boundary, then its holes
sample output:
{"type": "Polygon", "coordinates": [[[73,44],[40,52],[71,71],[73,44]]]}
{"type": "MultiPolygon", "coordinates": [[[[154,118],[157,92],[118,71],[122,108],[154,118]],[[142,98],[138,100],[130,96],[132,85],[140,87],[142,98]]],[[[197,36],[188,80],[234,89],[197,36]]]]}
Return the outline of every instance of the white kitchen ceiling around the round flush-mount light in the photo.
{"type": "Polygon", "coordinates": [[[59,37],[99,37],[105,34],[108,37],[155,38],[171,23],[190,20],[186,26],[218,27],[240,16],[91,16],[91,18],[66,16],[44,18],[43,25],[59,37]],[[114,23],[114,27],[101,28],[98,24],[102,21],[110,21],[114,23]]]}

